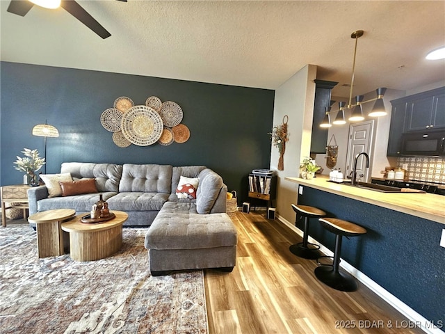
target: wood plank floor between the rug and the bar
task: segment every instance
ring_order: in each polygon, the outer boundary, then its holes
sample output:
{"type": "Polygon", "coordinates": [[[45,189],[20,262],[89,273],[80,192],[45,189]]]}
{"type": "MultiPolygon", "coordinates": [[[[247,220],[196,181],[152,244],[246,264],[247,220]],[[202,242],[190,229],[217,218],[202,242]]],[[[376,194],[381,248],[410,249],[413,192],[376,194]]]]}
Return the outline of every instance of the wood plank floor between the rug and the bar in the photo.
{"type": "Polygon", "coordinates": [[[289,251],[301,237],[283,223],[264,212],[231,216],[236,267],[204,274],[209,333],[423,333],[361,283],[356,292],[320,283],[316,262],[289,251]]]}

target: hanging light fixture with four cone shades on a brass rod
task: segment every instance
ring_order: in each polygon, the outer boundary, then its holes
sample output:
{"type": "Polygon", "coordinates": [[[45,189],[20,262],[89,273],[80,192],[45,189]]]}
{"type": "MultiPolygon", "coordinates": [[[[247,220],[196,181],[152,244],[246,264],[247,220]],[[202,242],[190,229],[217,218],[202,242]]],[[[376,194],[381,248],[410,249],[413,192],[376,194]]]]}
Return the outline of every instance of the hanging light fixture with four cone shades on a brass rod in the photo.
{"type": "MultiPolygon", "coordinates": [[[[364,120],[363,116],[363,108],[362,104],[373,102],[375,101],[375,104],[373,106],[373,109],[371,110],[371,113],[368,114],[370,117],[380,117],[387,115],[387,111],[385,110],[385,104],[383,103],[383,95],[385,95],[385,92],[387,88],[378,88],[376,90],[377,97],[363,101],[364,95],[357,95],[355,97],[355,104],[353,104],[353,88],[354,88],[354,80],[355,80],[355,60],[357,58],[357,40],[364,35],[363,30],[357,30],[351,33],[350,38],[355,39],[355,47],[354,47],[354,57],[353,57],[353,74],[350,78],[350,90],[349,90],[349,102],[348,106],[345,107],[346,102],[339,102],[339,111],[337,113],[337,117],[335,118],[334,122],[332,124],[334,125],[343,125],[346,124],[345,120],[345,109],[352,110],[350,118],[348,120],[350,122],[358,122],[360,120],[364,120]]],[[[330,123],[330,111],[326,111],[325,118],[323,119],[321,127],[331,127],[330,123]]]]}

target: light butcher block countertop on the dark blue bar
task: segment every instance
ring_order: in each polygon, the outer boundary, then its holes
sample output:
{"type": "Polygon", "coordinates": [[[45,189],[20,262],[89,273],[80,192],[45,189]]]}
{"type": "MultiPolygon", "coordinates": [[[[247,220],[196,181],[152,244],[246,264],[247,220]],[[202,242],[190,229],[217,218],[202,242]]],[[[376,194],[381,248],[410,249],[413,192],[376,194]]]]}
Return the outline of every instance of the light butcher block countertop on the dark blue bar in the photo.
{"type": "Polygon", "coordinates": [[[445,196],[434,193],[382,193],[356,186],[327,182],[329,178],[324,175],[317,175],[312,180],[300,177],[285,177],[284,180],[445,224],[445,196]]]}

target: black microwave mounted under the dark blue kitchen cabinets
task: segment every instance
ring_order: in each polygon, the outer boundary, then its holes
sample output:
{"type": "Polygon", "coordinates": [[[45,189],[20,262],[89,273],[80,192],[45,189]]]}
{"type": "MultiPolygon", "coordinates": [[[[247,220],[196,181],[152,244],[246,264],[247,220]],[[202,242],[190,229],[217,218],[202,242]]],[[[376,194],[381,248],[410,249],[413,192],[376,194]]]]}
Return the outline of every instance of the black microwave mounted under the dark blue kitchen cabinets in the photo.
{"type": "Polygon", "coordinates": [[[445,129],[402,134],[401,154],[445,156],[445,129]]]}

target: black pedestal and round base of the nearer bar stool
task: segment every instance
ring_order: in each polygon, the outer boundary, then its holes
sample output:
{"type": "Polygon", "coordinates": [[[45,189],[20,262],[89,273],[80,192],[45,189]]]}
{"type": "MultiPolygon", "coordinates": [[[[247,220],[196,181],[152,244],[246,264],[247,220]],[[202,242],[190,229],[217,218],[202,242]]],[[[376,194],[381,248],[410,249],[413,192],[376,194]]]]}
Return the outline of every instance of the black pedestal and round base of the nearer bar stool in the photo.
{"type": "Polygon", "coordinates": [[[352,292],[357,290],[357,283],[355,278],[350,276],[349,273],[339,271],[341,254],[341,235],[335,235],[335,249],[334,249],[334,262],[331,266],[321,266],[315,269],[315,276],[318,280],[325,283],[334,289],[352,292]]]}

